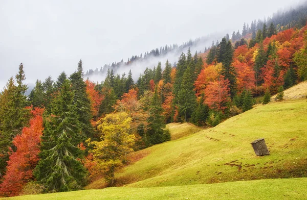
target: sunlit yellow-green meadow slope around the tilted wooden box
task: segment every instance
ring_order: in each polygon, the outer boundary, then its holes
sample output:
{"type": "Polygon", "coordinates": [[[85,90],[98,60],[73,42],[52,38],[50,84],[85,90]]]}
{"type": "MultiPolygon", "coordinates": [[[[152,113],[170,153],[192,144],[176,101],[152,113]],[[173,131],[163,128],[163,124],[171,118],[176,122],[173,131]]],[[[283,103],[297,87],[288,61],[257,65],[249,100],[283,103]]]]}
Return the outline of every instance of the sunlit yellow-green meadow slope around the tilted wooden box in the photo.
{"type": "MultiPolygon", "coordinates": [[[[117,173],[116,184],[161,187],[307,177],[306,118],[306,99],[257,105],[215,128],[144,149],[148,155],[117,173]],[[262,137],[271,155],[258,157],[250,142],[262,137]]],[[[103,186],[101,179],[86,189],[103,186]]]]}

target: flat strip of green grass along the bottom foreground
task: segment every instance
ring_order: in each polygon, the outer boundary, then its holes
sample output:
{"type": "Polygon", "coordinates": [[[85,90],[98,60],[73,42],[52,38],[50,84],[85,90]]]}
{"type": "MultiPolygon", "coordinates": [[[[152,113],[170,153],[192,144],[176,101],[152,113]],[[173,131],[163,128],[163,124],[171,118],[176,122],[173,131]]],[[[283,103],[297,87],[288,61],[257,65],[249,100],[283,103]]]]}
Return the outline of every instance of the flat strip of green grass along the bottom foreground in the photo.
{"type": "Polygon", "coordinates": [[[306,199],[307,179],[267,179],[230,183],[153,188],[105,188],[13,199],[306,199]]]}

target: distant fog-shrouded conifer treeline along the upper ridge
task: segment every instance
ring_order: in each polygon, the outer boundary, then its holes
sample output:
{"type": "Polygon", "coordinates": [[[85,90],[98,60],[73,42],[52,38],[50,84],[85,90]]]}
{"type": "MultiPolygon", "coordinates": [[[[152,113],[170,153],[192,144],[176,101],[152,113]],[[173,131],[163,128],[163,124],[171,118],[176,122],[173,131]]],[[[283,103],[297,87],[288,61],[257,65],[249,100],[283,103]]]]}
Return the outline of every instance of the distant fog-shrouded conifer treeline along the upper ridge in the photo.
{"type": "MultiPolygon", "coordinates": [[[[274,13],[272,17],[268,17],[265,19],[258,19],[253,20],[251,23],[244,23],[242,30],[237,30],[231,33],[230,35],[226,34],[226,41],[232,40],[232,42],[236,42],[240,40],[241,38],[250,38],[255,39],[257,31],[258,30],[268,30],[273,29],[277,32],[284,31],[291,28],[297,28],[301,29],[305,26],[307,22],[307,2],[303,3],[302,5],[289,9],[287,11],[278,11],[277,13],[274,13]]],[[[270,34],[276,34],[273,32],[268,33],[269,37],[270,34]]],[[[267,36],[265,36],[267,37],[267,36]]],[[[265,38],[264,37],[264,38],[265,38]]],[[[151,51],[147,51],[144,54],[131,56],[127,59],[127,61],[123,61],[123,59],[120,62],[113,62],[112,64],[105,64],[100,69],[90,69],[86,71],[85,77],[89,77],[93,74],[105,74],[107,69],[113,69],[113,71],[117,71],[120,67],[129,67],[129,65],[133,64],[137,61],[144,61],[149,60],[153,57],[160,57],[160,56],[166,56],[168,53],[182,53],[184,49],[187,49],[192,46],[198,46],[202,42],[202,39],[195,39],[195,40],[189,40],[187,42],[184,42],[181,45],[178,44],[172,44],[172,45],[165,45],[160,46],[160,48],[151,49],[151,51]]],[[[214,45],[218,45],[218,41],[214,42],[214,45]]],[[[237,44],[236,44],[237,45],[237,44]]],[[[204,48],[204,53],[210,49],[210,46],[206,46],[204,48]]],[[[202,53],[203,50],[200,49],[199,53],[202,53]]]]}

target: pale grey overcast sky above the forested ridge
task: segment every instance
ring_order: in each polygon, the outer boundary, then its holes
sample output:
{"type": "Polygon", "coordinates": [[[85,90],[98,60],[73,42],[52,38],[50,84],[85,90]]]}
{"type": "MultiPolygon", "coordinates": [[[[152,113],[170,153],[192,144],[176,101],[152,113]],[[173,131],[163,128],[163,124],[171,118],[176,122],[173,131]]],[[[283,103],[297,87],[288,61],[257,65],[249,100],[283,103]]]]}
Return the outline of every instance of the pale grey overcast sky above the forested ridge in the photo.
{"type": "MultiPolygon", "coordinates": [[[[0,90],[18,72],[26,83],[62,71],[127,61],[165,44],[242,30],[300,0],[0,1],[0,90]]],[[[211,42],[210,42],[211,43],[211,42]]]]}

